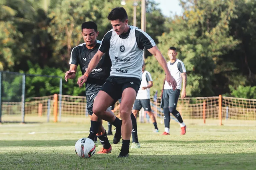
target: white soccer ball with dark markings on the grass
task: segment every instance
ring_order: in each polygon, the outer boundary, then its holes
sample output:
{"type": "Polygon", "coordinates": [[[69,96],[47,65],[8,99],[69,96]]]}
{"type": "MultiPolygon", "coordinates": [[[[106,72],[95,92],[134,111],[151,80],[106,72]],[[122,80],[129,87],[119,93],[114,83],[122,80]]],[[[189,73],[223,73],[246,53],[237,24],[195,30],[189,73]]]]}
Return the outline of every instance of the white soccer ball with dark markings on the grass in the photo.
{"type": "Polygon", "coordinates": [[[96,146],[93,140],[81,138],[75,145],[75,151],[81,158],[91,158],[96,152],[96,146]]]}

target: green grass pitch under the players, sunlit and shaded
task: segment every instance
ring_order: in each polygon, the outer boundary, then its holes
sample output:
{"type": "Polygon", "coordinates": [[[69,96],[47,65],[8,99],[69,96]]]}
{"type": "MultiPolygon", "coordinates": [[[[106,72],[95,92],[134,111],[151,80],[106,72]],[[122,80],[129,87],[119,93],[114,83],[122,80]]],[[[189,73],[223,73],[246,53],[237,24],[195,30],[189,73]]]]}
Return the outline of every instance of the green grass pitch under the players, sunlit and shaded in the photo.
{"type": "MultiPolygon", "coordinates": [[[[0,125],[0,169],[256,169],[256,125],[218,126],[171,121],[169,136],[152,133],[153,125],[138,123],[140,149],[129,158],[117,158],[121,142],[112,153],[79,158],[75,143],[89,134],[89,120],[79,123],[0,125]]],[[[107,123],[104,122],[107,128],[107,123]]],[[[110,142],[113,136],[109,137],[110,142]]],[[[101,146],[97,147],[99,151],[101,146]]]]}

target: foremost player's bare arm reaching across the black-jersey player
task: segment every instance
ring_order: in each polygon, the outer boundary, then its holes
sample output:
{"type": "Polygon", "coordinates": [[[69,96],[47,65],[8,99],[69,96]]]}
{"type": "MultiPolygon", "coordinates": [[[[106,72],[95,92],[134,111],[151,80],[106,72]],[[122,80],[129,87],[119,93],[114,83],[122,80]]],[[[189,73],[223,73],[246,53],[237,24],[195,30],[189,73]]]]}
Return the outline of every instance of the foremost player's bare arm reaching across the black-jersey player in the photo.
{"type": "Polygon", "coordinates": [[[87,81],[89,74],[97,66],[104,54],[105,53],[98,50],[97,53],[93,56],[84,75],[78,78],[77,84],[79,85],[79,88],[81,88],[83,84],[87,81]]]}

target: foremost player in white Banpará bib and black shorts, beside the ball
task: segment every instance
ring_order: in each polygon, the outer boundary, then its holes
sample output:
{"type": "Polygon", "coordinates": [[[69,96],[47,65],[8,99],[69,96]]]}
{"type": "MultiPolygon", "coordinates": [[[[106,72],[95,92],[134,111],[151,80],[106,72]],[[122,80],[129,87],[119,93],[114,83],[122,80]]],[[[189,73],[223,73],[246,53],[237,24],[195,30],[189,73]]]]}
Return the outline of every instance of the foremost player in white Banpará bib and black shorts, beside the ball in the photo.
{"type": "MultiPolygon", "coordinates": [[[[128,16],[124,8],[112,9],[108,15],[113,29],[102,39],[98,52],[89,63],[88,69],[78,84],[81,87],[87,81],[91,71],[100,62],[105,52],[109,51],[112,62],[110,76],[95,98],[93,113],[116,126],[113,143],[117,144],[122,136],[122,149],[118,157],[129,156],[129,145],[132,132],[131,110],[141,83],[143,49],[153,54],[166,73],[166,82],[175,90],[176,81],[168,70],[166,60],[155,45],[154,40],[139,28],[128,25],[128,16]],[[113,120],[106,109],[122,98],[120,104],[121,128],[119,119],[113,120]]],[[[96,126],[96,125],[95,125],[96,126]]],[[[98,127],[94,127],[98,128],[98,127]]]]}

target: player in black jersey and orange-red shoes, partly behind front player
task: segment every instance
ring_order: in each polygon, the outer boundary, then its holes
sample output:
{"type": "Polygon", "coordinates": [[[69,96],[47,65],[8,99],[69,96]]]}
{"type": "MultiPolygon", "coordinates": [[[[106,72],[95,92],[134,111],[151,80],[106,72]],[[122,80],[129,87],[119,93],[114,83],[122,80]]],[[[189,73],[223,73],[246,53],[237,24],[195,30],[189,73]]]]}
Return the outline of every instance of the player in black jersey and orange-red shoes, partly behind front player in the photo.
{"type": "MultiPolygon", "coordinates": [[[[82,24],[82,35],[85,43],[73,48],[70,58],[70,70],[65,74],[66,81],[69,78],[75,78],[78,64],[80,65],[82,73],[85,73],[90,60],[98,51],[101,44],[101,41],[97,41],[98,34],[99,32],[97,31],[97,25],[94,22],[84,22],[82,24]]],[[[107,138],[106,130],[102,126],[102,119],[93,114],[94,99],[109,76],[110,67],[111,61],[109,55],[108,53],[105,53],[96,68],[92,70],[92,73],[86,82],[87,110],[91,117],[91,124],[99,125],[97,130],[92,130],[92,128],[90,129],[90,135],[88,138],[95,140],[95,135],[97,135],[103,145],[103,148],[98,152],[99,154],[110,153],[112,151],[112,147],[107,138]],[[93,133],[93,135],[91,135],[91,133],[93,133]]],[[[112,117],[115,118],[114,114],[110,110],[107,110],[106,112],[109,112],[112,114],[112,117]]]]}

